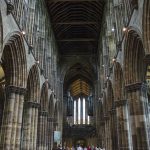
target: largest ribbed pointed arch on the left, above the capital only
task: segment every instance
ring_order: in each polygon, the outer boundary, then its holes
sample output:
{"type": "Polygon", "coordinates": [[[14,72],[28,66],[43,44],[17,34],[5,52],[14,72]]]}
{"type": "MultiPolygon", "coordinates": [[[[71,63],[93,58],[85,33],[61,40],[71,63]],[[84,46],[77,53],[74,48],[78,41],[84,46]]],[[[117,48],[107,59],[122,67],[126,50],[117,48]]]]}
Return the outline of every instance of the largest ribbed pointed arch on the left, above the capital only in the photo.
{"type": "Polygon", "coordinates": [[[4,46],[2,66],[5,72],[6,85],[26,87],[27,62],[22,34],[15,32],[4,46]]]}

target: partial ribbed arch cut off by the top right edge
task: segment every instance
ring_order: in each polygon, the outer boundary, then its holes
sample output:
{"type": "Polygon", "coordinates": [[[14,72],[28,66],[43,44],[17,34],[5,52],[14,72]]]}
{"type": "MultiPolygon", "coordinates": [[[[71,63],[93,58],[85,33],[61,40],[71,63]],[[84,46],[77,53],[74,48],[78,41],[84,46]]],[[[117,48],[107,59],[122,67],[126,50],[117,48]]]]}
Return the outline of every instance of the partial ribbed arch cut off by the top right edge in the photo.
{"type": "Polygon", "coordinates": [[[145,0],[143,6],[143,36],[146,54],[150,55],[150,1],[145,0]]]}

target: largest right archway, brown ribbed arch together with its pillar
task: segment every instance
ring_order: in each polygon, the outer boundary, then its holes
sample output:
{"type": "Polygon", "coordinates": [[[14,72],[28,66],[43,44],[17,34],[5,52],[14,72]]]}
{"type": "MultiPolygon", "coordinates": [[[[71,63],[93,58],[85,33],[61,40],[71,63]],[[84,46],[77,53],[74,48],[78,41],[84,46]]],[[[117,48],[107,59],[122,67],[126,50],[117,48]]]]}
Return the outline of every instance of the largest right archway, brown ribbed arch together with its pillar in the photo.
{"type": "Polygon", "coordinates": [[[124,48],[124,79],[126,96],[129,104],[133,149],[149,150],[148,106],[146,86],[144,48],[139,34],[129,29],[125,37],[124,48]],[[141,136],[142,135],[142,136],[141,136]]]}

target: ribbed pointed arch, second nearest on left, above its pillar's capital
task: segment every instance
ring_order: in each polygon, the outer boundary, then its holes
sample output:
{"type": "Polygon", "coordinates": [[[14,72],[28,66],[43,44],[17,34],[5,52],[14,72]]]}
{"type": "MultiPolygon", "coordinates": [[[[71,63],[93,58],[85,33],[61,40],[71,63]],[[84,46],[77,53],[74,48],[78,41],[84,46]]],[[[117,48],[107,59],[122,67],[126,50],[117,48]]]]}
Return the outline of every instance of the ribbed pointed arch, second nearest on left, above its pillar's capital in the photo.
{"type": "Polygon", "coordinates": [[[27,101],[39,103],[40,79],[37,65],[33,65],[29,71],[27,81],[27,101]]]}

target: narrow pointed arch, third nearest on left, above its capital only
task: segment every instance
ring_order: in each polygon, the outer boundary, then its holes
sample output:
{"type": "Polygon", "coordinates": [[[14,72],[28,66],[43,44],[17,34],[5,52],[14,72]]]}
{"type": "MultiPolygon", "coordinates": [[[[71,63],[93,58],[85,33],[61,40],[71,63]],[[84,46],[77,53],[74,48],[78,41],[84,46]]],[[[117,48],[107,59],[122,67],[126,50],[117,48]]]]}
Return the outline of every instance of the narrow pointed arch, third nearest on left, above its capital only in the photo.
{"type": "Polygon", "coordinates": [[[40,99],[41,111],[48,111],[48,86],[47,82],[45,82],[42,86],[40,99]]]}

